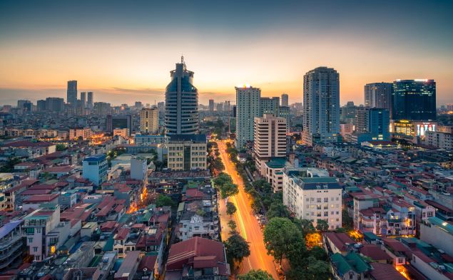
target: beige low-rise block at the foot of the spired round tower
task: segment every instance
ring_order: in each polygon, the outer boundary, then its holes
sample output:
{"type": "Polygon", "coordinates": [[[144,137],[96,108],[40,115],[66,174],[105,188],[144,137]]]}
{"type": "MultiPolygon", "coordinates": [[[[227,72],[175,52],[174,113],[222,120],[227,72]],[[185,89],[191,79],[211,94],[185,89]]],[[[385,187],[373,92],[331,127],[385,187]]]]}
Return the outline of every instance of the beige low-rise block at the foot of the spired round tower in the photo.
{"type": "Polygon", "coordinates": [[[206,170],[206,135],[171,135],[168,143],[168,168],[206,170]]]}

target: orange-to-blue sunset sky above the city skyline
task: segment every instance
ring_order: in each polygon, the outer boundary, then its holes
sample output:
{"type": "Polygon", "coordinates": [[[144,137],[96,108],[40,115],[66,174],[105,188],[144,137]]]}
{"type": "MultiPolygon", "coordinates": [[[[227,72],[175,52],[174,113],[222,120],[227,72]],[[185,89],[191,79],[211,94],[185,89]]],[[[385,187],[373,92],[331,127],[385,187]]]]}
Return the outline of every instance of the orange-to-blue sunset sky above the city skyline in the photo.
{"type": "Polygon", "coordinates": [[[365,83],[433,78],[453,103],[453,1],[0,1],[0,104],[66,100],[66,81],[113,104],[163,100],[181,54],[200,103],[262,95],[302,102],[302,77],[340,73],[340,103],[365,83]],[[155,2],[155,3],[153,3],[155,2]]]}

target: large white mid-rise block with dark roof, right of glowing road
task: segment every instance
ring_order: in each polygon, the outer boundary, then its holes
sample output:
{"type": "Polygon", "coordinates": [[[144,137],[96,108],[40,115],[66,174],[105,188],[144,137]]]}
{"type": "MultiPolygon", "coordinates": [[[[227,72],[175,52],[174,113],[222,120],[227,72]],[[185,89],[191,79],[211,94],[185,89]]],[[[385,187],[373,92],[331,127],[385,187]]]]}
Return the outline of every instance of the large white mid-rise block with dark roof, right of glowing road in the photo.
{"type": "Polygon", "coordinates": [[[342,187],[325,170],[291,168],[283,172],[283,204],[295,217],[309,219],[316,227],[324,219],[329,229],[342,223],[342,187]]]}

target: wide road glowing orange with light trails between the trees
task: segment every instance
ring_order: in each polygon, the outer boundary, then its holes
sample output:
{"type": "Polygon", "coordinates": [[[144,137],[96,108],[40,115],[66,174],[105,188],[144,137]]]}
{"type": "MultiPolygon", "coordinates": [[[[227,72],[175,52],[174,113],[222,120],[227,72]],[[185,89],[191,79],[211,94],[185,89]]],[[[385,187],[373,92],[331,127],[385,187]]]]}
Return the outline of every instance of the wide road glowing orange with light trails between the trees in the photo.
{"type": "MultiPolygon", "coordinates": [[[[244,182],[242,177],[238,174],[235,169],[235,165],[231,162],[230,157],[226,152],[226,145],[223,141],[218,141],[218,148],[220,157],[225,165],[225,172],[228,173],[233,182],[238,185],[239,193],[234,197],[230,197],[229,201],[233,202],[236,206],[236,213],[234,219],[238,224],[238,232],[244,237],[250,244],[250,256],[244,259],[243,267],[240,274],[245,274],[251,269],[263,269],[268,271],[275,280],[278,279],[277,271],[273,262],[273,257],[269,256],[266,252],[263,242],[263,232],[261,232],[260,224],[253,215],[252,207],[250,207],[250,200],[248,199],[247,193],[244,190],[244,182]]],[[[225,199],[219,199],[219,212],[220,212],[220,223],[223,226],[222,239],[228,239],[228,215],[225,210],[225,199]]]]}

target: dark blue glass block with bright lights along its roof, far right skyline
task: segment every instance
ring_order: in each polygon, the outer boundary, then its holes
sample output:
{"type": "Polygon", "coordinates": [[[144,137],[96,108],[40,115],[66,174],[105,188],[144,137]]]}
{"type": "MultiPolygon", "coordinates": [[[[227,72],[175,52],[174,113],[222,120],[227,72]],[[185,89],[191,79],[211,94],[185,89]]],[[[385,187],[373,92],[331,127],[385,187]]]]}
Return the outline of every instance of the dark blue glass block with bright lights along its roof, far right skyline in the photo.
{"type": "Polygon", "coordinates": [[[393,82],[392,120],[436,120],[436,82],[393,82]]]}

